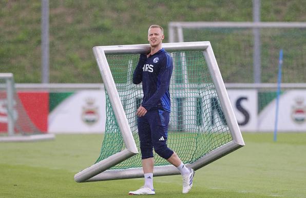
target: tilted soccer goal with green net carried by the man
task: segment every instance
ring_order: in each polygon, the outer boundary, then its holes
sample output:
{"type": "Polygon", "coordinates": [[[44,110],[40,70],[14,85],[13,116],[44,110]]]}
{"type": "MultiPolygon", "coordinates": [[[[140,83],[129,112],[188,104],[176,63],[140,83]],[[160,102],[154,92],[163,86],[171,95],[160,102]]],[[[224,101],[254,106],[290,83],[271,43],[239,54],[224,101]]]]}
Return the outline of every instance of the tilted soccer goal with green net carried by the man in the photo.
{"type": "MultiPolygon", "coordinates": [[[[244,146],[211,43],[165,43],[163,48],[174,60],[169,148],[197,170],[244,146]]],[[[149,49],[149,44],[93,48],[106,89],[106,129],[97,162],[76,173],[76,182],[143,177],[135,114],[143,92],[141,84],[132,84],[132,74],[139,54],[149,49]]],[[[154,176],[180,174],[157,154],[154,159],[154,176]]]]}

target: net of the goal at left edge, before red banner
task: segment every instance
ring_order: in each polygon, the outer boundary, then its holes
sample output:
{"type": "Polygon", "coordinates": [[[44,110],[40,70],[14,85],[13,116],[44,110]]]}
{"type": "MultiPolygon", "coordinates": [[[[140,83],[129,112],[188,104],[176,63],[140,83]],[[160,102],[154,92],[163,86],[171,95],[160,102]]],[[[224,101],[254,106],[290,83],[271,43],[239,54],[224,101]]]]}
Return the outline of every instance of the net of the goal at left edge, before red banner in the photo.
{"type": "Polygon", "coordinates": [[[8,119],[14,122],[14,135],[32,135],[42,134],[31,121],[23,104],[15,91],[14,81],[7,83],[7,78],[0,77],[0,135],[8,135],[8,119]],[[7,108],[7,87],[10,86],[13,90],[13,110],[7,108]]]}

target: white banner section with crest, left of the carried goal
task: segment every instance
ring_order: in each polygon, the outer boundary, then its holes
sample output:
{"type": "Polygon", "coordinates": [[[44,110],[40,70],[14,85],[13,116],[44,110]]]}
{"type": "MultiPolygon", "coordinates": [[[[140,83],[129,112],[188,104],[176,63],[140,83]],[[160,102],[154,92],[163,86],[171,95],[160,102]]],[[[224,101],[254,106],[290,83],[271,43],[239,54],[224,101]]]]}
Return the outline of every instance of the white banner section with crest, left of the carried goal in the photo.
{"type": "Polygon", "coordinates": [[[50,133],[98,133],[105,131],[105,92],[78,91],[49,113],[50,133]]]}

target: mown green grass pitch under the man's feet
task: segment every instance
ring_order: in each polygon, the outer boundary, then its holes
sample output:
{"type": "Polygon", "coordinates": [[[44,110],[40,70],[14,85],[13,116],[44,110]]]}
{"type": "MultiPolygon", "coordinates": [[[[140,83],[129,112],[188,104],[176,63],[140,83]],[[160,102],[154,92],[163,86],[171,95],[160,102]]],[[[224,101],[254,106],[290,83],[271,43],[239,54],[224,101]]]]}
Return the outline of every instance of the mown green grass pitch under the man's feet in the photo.
{"type": "MultiPolygon", "coordinates": [[[[181,177],[155,177],[156,197],[306,197],[306,133],[244,133],[246,146],[181,177]]],[[[76,183],[73,175],[100,153],[100,134],[56,135],[55,141],[0,144],[0,197],[130,197],[143,179],[76,183]]]]}

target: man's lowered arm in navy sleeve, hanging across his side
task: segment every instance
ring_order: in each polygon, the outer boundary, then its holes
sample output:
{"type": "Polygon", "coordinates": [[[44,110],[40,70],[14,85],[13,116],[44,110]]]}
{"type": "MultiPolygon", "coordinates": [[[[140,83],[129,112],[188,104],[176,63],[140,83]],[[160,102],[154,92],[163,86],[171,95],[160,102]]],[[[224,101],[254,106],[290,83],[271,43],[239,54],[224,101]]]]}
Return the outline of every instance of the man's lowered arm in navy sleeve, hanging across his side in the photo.
{"type": "Polygon", "coordinates": [[[150,108],[156,106],[162,95],[165,94],[165,92],[169,88],[170,78],[173,70],[173,60],[171,56],[167,54],[166,58],[164,58],[161,64],[162,67],[158,74],[158,77],[160,79],[160,86],[157,88],[156,92],[149,98],[149,100],[141,105],[147,111],[150,110],[150,108]]]}

